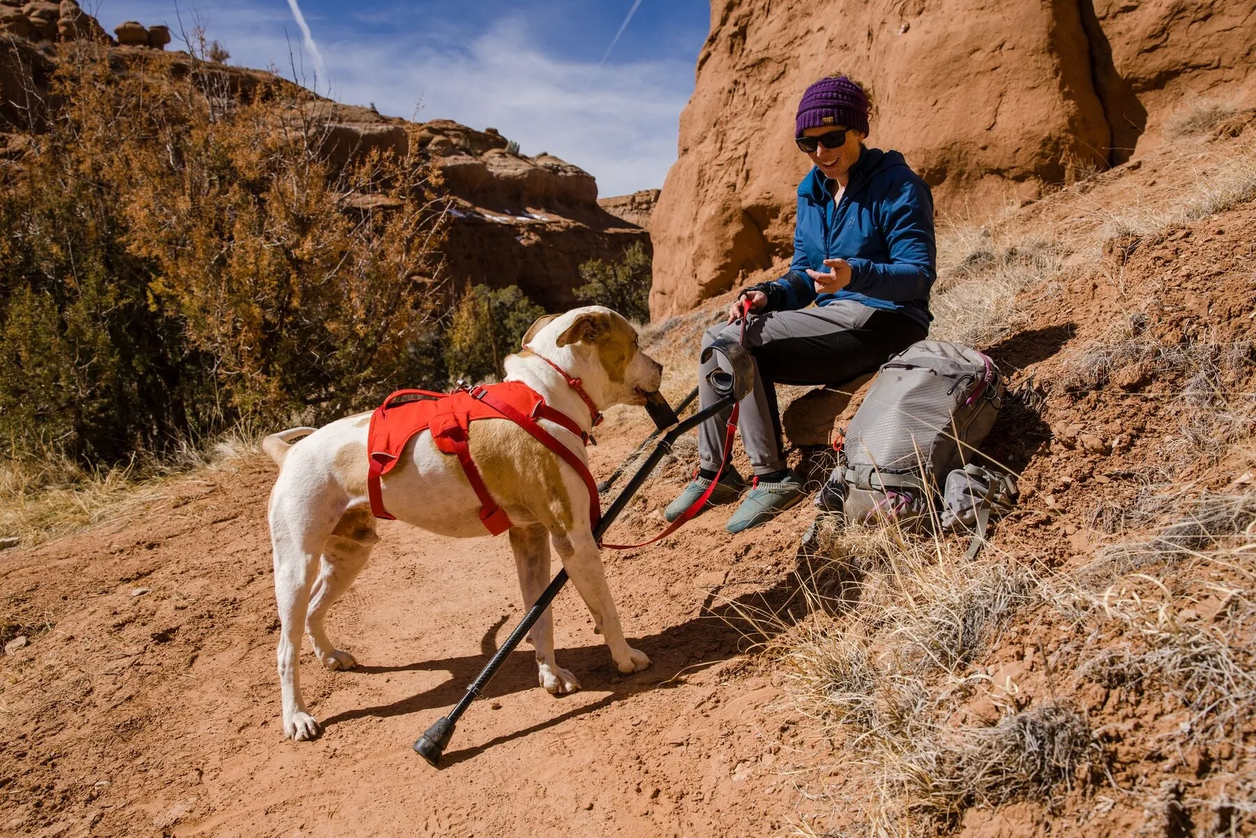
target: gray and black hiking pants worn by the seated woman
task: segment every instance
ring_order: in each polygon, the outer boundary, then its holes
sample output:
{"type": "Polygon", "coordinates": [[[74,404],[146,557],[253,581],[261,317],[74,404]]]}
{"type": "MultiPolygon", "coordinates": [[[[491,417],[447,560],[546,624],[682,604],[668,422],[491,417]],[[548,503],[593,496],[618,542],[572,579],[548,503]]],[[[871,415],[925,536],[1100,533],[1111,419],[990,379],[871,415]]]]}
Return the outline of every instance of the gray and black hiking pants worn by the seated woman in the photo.
{"type": "MultiPolygon", "coordinates": [[[[702,338],[706,349],[721,334],[734,340],[741,324],[715,325],[702,338]]],[[[782,384],[842,384],[875,371],[889,356],[923,340],[928,330],[897,312],[870,308],[854,300],[835,300],[823,308],[770,312],[746,325],[746,348],[754,359],[755,388],[741,400],[737,426],[741,443],[762,475],[786,467],[776,408],[777,382],[782,384]]],[[[718,401],[706,383],[716,366],[712,358],[698,369],[698,403],[718,401]]],[[[721,411],[698,427],[698,454],[703,469],[720,467],[723,433],[732,408],[721,411]]]]}

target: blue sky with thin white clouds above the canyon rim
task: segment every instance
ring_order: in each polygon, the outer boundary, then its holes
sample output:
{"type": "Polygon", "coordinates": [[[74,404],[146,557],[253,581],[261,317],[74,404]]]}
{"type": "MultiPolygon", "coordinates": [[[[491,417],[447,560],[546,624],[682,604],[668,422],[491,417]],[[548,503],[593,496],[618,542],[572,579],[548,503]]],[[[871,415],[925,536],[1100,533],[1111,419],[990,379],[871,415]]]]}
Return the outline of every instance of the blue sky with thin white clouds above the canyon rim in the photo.
{"type": "MultiPolygon", "coordinates": [[[[526,155],[548,151],[598,178],[603,196],[659,187],[710,25],[707,0],[92,0],[123,20],[195,18],[231,64],[274,67],[318,92],[382,113],[494,127],[526,155]],[[615,33],[637,10],[605,62],[615,33]],[[314,55],[317,49],[318,57],[314,55]],[[600,65],[599,65],[600,64],[600,65]]],[[[171,49],[182,48],[176,34],[171,49]]]]}

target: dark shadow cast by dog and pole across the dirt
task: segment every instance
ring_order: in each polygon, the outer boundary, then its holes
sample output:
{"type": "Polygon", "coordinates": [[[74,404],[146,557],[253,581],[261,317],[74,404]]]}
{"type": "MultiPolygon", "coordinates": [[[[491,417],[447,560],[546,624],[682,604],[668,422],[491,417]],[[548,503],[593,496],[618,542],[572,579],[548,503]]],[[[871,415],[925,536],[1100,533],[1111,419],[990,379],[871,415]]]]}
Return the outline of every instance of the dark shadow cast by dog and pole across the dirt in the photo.
{"type": "MultiPolygon", "coordinates": [[[[559,663],[579,675],[584,690],[610,691],[610,695],[593,704],[582,704],[579,707],[529,727],[504,734],[476,748],[451,751],[442,758],[441,764],[460,763],[494,745],[501,745],[545,730],[568,719],[600,710],[638,692],[679,686],[683,683],[679,677],[683,673],[727,661],[801,618],[814,607],[813,598],[801,596],[801,579],[806,575],[804,567],[800,565],[798,570],[788,574],[767,590],[747,593],[720,603],[715,602],[716,596],[708,596],[696,617],[678,626],[671,626],[657,634],[631,638],[632,645],[649,655],[653,662],[651,668],[639,675],[623,676],[615,672],[603,643],[556,650],[559,663]]],[[[494,638],[506,619],[502,617],[485,633],[480,642],[482,655],[420,661],[402,666],[355,667],[348,675],[446,671],[450,677],[431,690],[392,704],[358,707],[335,714],[323,720],[324,727],[369,716],[377,719],[404,716],[425,710],[443,709],[457,702],[466,692],[467,685],[496,651],[494,638]]],[[[481,697],[492,699],[536,688],[539,688],[536,686],[536,663],[529,647],[516,651],[506,658],[481,697]]],[[[435,719],[425,720],[423,726],[426,727],[426,722],[431,721],[435,719]]],[[[416,737],[420,732],[421,730],[416,727],[416,737]]]]}

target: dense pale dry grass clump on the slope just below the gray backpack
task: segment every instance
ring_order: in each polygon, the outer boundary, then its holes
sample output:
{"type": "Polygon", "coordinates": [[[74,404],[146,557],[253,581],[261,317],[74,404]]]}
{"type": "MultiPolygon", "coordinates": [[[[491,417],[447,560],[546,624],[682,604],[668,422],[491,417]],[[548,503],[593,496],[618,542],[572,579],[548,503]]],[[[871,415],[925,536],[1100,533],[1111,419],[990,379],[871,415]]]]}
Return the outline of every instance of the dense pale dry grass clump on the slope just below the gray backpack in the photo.
{"type": "Polygon", "coordinates": [[[971,805],[1050,800],[1071,783],[1091,741],[1066,706],[1010,707],[988,727],[948,724],[988,681],[971,663],[1041,602],[1032,573],[967,562],[958,543],[836,519],[821,525],[818,547],[808,596],[830,607],[815,608],[775,653],[798,706],[878,789],[872,802],[835,804],[857,807],[872,834],[912,834],[912,824],[952,824],[971,805]]]}

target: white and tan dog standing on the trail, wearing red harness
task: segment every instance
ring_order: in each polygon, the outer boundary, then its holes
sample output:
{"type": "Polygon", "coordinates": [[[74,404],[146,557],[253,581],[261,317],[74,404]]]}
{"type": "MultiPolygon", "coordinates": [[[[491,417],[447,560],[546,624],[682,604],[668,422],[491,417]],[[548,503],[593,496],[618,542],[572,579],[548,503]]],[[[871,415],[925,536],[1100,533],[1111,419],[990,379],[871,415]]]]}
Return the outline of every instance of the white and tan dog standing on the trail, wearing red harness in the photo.
{"type": "MultiPolygon", "coordinates": [[[[662,377],[662,367],[638,348],[637,332],[628,320],[597,305],[539,319],[524,343],[529,348],[506,358],[506,379],[526,383],[585,431],[593,430],[588,406],[543,358],[580,378],[598,410],[643,405],[662,377]]],[[[371,415],[360,413],[317,431],[274,433],[263,442],[281,466],[270,495],[270,538],[281,624],[278,658],[284,734],[291,739],[311,739],[319,729],[301,699],[303,627],[323,666],[355,666],[353,656],[328,638],[324,621],[379,540],[367,498],[369,423],[371,415]],[[309,436],[299,445],[291,443],[304,435],[309,436]]],[[[579,437],[554,422],[541,425],[587,462],[579,437]]],[[[649,666],[644,653],[624,642],[580,475],[505,418],[472,422],[470,450],[485,484],[514,524],[510,547],[524,606],[530,607],[549,584],[553,543],[610,647],[615,667],[639,672],[649,666]]],[[[480,501],[458,460],[437,450],[427,431],[411,438],[399,462],[384,475],[383,503],[398,520],[432,533],[456,538],[487,534],[480,521],[480,501]]],[[[575,676],[554,661],[550,609],[533,627],[530,638],[541,686],[553,694],[580,688],[575,676]]]]}

